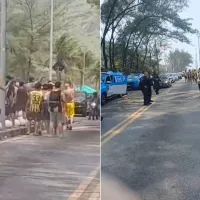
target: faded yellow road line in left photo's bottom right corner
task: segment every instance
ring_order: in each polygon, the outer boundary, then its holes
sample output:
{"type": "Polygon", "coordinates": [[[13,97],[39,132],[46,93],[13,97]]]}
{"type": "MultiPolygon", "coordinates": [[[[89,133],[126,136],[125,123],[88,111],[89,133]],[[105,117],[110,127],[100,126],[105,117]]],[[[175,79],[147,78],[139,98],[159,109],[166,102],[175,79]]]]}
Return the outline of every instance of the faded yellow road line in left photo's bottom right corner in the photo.
{"type": "Polygon", "coordinates": [[[86,191],[90,183],[93,181],[95,176],[99,173],[100,166],[98,166],[94,171],[92,171],[86,180],[80,183],[80,185],[77,187],[77,189],[70,195],[68,200],[78,200],[82,194],[86,191]]]}

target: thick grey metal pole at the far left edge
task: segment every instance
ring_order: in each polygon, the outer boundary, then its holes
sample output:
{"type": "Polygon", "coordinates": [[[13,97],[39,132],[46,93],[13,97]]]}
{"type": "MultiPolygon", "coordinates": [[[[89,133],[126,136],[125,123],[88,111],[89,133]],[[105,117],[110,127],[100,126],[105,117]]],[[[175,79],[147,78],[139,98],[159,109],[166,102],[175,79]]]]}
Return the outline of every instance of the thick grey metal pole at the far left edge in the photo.
{"type": "MultiPolygon", "coordinates": [[[[1,71],[0,84],[5,86],[6,74],[6,23],[7,23],[7,0],[1,0],[1,71]]],[[[5,92],[1,91],[0,117],[3,128],[5,127],[5,92]]]]}

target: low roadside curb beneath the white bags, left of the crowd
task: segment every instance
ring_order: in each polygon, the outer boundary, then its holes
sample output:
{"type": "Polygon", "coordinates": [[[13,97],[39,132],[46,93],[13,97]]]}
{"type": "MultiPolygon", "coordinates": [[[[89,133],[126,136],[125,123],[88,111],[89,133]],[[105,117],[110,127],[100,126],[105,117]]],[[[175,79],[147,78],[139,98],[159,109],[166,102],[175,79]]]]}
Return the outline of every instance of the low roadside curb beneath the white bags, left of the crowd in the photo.
{"type": "Polygon", "coordinates": [[[20,135],[26,135],[27,128],[26,127],[17,127],[10,128],[6,130],[0,130],[0,141],[5,140],[7,138],[17,137],[20,135]]]}

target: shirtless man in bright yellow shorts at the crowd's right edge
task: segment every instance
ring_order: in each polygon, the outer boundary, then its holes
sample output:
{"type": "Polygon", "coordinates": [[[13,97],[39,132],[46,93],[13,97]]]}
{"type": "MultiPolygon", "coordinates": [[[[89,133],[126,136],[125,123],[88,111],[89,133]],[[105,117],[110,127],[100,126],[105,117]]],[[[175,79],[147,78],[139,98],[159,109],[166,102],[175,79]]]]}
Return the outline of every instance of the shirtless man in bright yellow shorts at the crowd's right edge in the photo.
{"type": "Polygon", "coordinates": [[[67,128],[72,130],[72,124],[74,121],[74,88],[70,87],[69,83],[65,84],[63,97],[65,102],[65,117],[67,121],[67,128]]]}

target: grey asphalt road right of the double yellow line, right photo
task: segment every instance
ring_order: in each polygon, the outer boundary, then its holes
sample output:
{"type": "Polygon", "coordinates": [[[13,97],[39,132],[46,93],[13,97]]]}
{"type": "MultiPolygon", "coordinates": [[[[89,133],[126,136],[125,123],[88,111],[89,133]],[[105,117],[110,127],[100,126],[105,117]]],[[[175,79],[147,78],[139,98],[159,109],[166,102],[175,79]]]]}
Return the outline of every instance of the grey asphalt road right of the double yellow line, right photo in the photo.
{"type": "Polygon", "coordinates": [[[183,81],[102,147],[102,173],[146,200],[200,199],[200,93],[183,81]]]}

